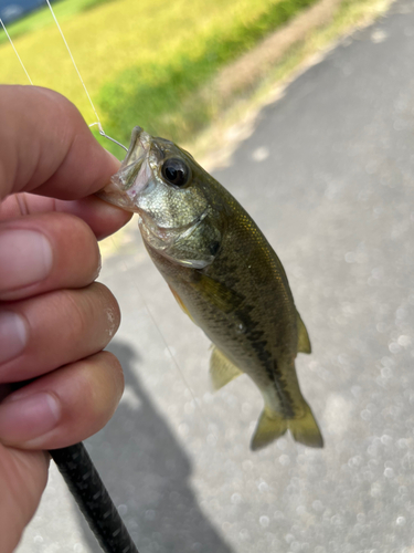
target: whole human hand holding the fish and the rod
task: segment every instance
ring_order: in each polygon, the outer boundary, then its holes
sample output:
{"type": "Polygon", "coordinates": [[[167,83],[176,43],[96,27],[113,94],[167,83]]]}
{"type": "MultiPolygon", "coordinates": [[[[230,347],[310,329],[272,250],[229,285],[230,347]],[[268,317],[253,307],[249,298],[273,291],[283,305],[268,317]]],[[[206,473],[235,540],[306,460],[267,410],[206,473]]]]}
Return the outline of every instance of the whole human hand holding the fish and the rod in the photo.
{"type": "Polygon", "coordinates": [[[94,281],[97,239],[130,215],[92,196],[118,166],[63,96],[0,86],[2,553],[39,504],[42,450],[99,430],[123,392],[118,361],[102,351],[119,325],[118,305],[94,281]]]}

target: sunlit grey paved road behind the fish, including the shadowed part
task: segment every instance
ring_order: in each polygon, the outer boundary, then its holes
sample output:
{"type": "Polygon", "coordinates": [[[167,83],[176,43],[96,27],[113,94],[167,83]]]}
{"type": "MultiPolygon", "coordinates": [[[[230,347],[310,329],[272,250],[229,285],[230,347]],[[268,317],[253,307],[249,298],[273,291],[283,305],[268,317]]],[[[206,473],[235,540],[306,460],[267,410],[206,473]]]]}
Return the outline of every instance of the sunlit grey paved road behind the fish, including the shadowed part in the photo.
{"type": "MultiPolygon", "coordinates": [[[[105,263],[127,388],[87,446],[142,553],[414,552],[413,60],[402,0],[291,83],[215,173],[285,264],[323,450],[287,437],[250,452],[258,393],[242,377],[210,394],[209,344],[135,227],[105,263]]],[[[18,551],[98,551],[54,471],[18,551]]]]}

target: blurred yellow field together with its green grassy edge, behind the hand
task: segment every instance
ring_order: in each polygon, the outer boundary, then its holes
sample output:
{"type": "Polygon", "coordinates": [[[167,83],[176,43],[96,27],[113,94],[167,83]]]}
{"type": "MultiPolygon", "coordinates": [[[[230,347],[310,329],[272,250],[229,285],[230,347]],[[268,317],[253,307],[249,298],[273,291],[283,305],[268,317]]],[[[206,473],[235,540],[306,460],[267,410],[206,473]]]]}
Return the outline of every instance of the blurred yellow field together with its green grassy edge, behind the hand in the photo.
{"type": "MultiPolygon", "coordinates": [[[[220,113],[220,98],[198,91],[315,1],[62,0],[54,9],[105,131],[128,144],[137,124],[188,142],[220,113]]],[[[40,10],[9,32],[34,84],[57,90],[88,123],[96,121],[50,12],[40,10]]],[[[26,83],[6,42],[0,58],[1,82],[26,83]]]]}

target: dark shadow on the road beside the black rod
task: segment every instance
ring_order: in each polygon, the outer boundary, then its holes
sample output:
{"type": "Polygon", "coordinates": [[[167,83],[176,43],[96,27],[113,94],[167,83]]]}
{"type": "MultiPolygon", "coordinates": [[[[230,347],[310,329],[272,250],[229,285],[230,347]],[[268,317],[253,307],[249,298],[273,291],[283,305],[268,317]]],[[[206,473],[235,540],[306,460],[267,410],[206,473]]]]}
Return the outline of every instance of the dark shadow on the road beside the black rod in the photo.
{"type": "MultiPolygon", "coordinates": [[[[191,463],[137,377],[137,353],[114,341],[125,398],[86,447],[140,553],[231,553],[201,511],[189,478],[191,463]]],[[[91,551],[100,549],[79,515],[91,551]]]]}

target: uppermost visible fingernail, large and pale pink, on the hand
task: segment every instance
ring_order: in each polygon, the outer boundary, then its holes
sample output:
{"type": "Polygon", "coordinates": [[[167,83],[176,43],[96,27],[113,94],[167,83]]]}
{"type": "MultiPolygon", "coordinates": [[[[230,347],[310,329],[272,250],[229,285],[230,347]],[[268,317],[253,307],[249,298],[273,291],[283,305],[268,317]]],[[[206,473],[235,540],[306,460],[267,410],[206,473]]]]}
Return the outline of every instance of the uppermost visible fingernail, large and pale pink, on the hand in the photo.
{"type": "Polygon", "coordinates": [[[1,292],[34,284],[52,269],[52,247],[47,238],[35,230],[3,230],[0,232],[1,292]]]}

